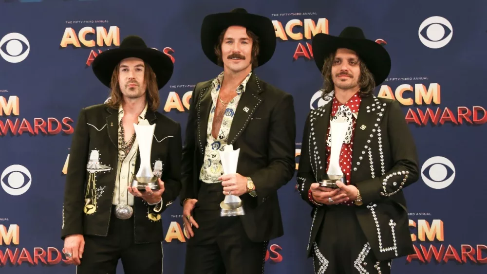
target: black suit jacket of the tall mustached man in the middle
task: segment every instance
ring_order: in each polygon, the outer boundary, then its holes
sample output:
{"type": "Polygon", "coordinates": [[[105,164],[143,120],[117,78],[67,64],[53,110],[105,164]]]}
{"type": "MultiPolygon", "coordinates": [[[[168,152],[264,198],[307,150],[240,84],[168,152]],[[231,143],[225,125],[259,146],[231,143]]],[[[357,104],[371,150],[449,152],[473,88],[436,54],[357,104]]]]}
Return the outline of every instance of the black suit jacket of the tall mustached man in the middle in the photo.
{"type": "MultiPolygon", "coordinates": [[[[192,94],[183,147],[183,190],[180,200],[197,199],[206,146],[206,127],[213,103],[212,80],[196,85],[192,94]]],[[[247,236],[256,242],[283,235],[277,190],[295,171],[296,118],[292,95],[261,81],[252,73],[239,101],[228,145],[240,148],[237,173],[249,176],[257,197],[240,196],[247,236]]]]}

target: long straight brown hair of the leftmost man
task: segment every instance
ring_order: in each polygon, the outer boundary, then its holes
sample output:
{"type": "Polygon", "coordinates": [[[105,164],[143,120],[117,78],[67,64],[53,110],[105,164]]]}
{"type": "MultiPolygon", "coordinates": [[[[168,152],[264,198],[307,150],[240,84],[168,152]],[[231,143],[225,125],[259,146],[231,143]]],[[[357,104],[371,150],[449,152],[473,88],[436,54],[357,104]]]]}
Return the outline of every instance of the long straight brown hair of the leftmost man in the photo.
{"type": "MultiPolygon", "coordinates": [[[[147,109],[156,111],[159,108],[159,90],[157,89],[157,78],[155,76],[154,71],[150,67],[150,65],[144,62],[144,82],[146,83],[146,101],[147,101],[147,109]]],[[[112,81],[110,83],[111,91],[110,91],[110,99],[107,102],[107,105],[118,109],[120,104],[123,102],[123,94],[120,90],[120,84],[118,82],[118,71],[120,68],[120,63],[115,67],[112,74],[112,81]]]]}

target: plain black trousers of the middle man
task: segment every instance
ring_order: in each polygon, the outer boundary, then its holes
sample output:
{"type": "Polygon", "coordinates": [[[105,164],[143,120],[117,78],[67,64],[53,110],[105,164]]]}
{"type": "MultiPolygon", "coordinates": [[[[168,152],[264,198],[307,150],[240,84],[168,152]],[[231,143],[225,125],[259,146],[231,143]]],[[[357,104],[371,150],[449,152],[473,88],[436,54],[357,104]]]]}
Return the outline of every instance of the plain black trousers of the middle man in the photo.
{"type": "Polygon", "coordinates": [[[263,273],[268,242],[252,242],[240,217],[220,217],[222,185],[202,184],[193,211],[199,228],[193,226],[194,237],[187,240],[185,274],[263,273]]]}

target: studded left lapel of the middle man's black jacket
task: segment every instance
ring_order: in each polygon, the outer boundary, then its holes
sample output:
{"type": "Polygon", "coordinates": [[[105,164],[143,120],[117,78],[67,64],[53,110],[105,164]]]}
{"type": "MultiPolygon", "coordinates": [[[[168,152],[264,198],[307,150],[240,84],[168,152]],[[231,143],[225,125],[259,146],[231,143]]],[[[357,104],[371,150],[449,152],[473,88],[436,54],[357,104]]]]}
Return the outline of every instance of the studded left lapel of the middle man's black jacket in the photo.
{"type": "Polygon", "coordinates": [[[210,81],[206,87],[202,87],[200,91],[200,98],[198,100],[198,144],[200,147],[200,153],[205,153],[206,144],[206,129],[208,127],[208,115],[210,114],[211,105],[213,100],[211,99],[211,89],[213,88],[212,81],[210,81]]]}

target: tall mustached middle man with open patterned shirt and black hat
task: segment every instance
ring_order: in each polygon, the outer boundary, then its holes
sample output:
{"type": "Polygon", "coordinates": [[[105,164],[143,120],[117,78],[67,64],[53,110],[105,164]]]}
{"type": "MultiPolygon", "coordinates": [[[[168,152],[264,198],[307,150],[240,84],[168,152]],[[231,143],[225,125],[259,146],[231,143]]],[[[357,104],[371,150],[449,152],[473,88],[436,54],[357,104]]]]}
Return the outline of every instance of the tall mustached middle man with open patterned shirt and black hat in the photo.
{"type": "Polygon", "coordinates": [[[283,235],[277,190],[295,170],[293,97],[259,79],[272,57],[274,26],[239,8],[206,16],[205,55],[223,67],[192,93],[183,148],[183,220],[187,274],[263,272],[269,240],[283,235]],[[225,174],[219,151],[240,149],[237,173],[225,174]],[[239,196],[244,215],[220,217],[225,195],[239,196]]]}

